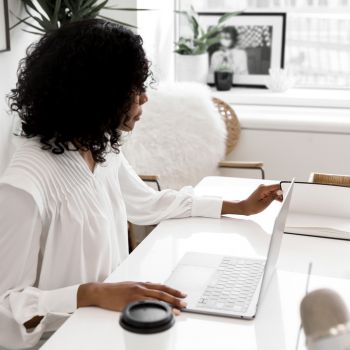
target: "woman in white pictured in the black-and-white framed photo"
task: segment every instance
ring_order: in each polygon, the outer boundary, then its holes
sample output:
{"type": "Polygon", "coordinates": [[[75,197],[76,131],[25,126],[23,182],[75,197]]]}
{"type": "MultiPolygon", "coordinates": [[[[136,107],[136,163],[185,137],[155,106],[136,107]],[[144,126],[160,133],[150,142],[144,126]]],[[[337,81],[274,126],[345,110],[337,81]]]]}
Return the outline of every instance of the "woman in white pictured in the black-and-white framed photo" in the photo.
{"type": "Polygon", "coordinates": [[[234,74],[249,74],[247,54],[236,47],[237,41],[238,33],[235,27],[225,27],[221,31],[220,46],[211,56],[211,73],[220,69],[230,69],[234,74]]]}

